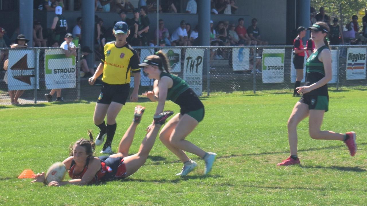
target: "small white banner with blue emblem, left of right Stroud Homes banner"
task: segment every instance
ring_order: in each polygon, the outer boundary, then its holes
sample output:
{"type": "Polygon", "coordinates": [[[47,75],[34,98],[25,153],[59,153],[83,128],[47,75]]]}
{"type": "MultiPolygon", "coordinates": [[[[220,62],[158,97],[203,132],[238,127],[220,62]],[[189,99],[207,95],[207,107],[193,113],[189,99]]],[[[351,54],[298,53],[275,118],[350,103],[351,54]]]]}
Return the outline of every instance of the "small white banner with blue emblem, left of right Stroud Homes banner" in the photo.
{"type": "Polygon", "coordinates": [[[250,69],[250,48],[232,49],[233,71],[243,71],[250,69]]]}

